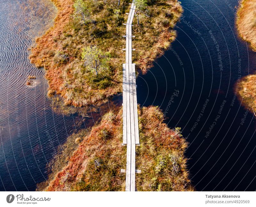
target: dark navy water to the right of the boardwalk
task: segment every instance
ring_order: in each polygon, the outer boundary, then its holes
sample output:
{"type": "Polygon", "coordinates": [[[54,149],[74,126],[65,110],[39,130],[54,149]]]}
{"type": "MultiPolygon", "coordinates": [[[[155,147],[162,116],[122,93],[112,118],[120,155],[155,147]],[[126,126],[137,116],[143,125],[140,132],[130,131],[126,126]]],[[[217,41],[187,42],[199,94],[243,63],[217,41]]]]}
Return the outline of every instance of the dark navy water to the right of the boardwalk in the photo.
{"type": "Polygon", "coordinates": [[[171,128],[181,127],[190,143],[186,156],[197,190],[254,191],[255,118],[237,100],[234,84],[255,71],[256,53],[238,37],[238,1],[181,2],[177,40],[138,78],[138,102],[158,105],[171,128]]]}

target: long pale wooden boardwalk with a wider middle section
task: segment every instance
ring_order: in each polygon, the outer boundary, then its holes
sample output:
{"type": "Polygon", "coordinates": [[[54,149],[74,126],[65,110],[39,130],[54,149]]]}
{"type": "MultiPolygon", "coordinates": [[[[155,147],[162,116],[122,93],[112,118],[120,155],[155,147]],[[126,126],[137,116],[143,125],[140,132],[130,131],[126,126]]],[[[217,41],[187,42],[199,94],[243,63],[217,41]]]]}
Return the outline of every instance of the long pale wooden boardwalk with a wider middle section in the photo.
{"type": "Polygon", "coordinates": [[[125,63],[123,64],[123,145],[127,145],[125,190],[135,191],[135,145],[140,144],[135,64],[132,63],[132,20],[134,0],[126,23],[125,63]]]}

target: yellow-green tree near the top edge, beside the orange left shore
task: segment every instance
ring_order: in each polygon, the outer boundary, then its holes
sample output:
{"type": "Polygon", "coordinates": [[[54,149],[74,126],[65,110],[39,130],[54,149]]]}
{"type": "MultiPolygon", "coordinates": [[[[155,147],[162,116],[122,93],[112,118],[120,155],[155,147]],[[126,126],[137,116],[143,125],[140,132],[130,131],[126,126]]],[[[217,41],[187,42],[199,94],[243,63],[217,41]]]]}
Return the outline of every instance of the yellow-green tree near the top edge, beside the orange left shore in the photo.
{"type": "Polygon", "coordinates": [[[74,19],[82,20],[84,25],[92,21],[90,18],[90,10],[86,8],[83,0],[76,0],[74,3],[74,9],[74,19]]]}

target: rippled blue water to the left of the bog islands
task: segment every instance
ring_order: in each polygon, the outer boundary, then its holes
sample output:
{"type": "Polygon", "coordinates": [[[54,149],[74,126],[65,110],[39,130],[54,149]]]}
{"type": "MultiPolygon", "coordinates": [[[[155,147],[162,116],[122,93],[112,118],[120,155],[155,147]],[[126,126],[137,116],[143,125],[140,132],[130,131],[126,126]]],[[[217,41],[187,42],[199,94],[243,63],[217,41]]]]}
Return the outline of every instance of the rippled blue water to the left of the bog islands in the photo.
{"type": "MultiPolygon", "coordinates": [[[[24,2],[0,0],[0,190],[8,191],[35,190],[36,183],[47,179],[48,164],[58,146],[104,113],[92,109],[83,116],[72,107],[68,115],[52,110],[44,70],[28,60],[32,40],[49,28],[49,21],[47,15],[38,19],[35,12],[23,12],[20,5],[24,2]],[[26,86],[29,75],[36,76],[35,87],[26,86]]],[[[37,9],[44,6],[38,4],[37,9]]]]}

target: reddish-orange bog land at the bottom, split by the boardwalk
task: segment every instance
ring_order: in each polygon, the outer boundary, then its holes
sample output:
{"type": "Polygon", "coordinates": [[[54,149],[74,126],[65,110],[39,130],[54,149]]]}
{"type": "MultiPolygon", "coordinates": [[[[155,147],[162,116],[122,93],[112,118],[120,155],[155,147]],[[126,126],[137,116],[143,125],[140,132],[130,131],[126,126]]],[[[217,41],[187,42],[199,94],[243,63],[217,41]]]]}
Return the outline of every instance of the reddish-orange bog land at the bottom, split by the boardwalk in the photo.
{"type": "MultiPolygon", "coordinates": [[[[180,129],[171,130],[157,107],[138,109],[140,146],[136,148],[136,189],[138,191],[193,190],[188,179],[184,151],[187,147],[180,129]]],[[[84,130],[72,136],[72,155],[45,190],[123,191],[125,190],[126,149],[122,146],[122,110],[110,111],[89,135],[84,130]]],[[[62,156],[63,157],[63,156],[62,156]]],[[[60,157],[60,159],[62,159],[60,157]]],[[[63,159],[64,159],[63,158],[63,159]]]]}

